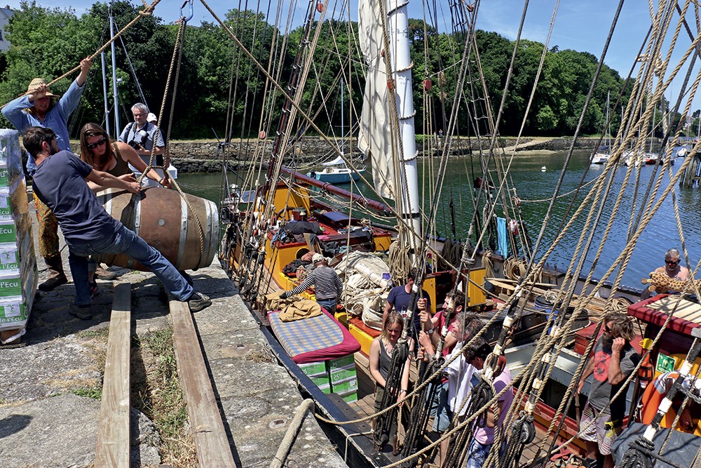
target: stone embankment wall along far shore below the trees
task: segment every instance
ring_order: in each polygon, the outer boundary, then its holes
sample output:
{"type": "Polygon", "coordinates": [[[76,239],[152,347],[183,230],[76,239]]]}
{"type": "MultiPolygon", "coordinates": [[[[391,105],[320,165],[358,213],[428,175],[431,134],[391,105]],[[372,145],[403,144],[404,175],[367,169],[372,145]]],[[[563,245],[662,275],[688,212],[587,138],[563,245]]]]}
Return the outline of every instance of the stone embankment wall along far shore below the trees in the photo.
{"type": "MultiPolygon", "coordinates": [[[[576,149],[593,149],[597,140],[597,138],[580,138],[577,140],[575,147],[576,149]]],[[[440,138],[436,138],[436,142],[440,143],[440,138]]],[[[569,149],[571,142],[571,138],[552,138],[543,141],[522,138],[519,140],[519,147],[520,145],[528,144],[523,149],[564,151],[569,149]]],[[[499,139],[501,147],[511,147],[515,143],[515,138],[499,139]]],[[[423,154],[423,142],[421,140],[417,141],[416,146],[419,150],[419,157],[437,156],[439,154],[438,152],[423,154]]],[[[482,138],[477,140],[477,138],[472,138],[470,139],[470,145],[466,144],[466,140],[460,140],[460,144],[454,145],[451,149],[451,156],[467,156],[471,150],[474,151],[480,146],[482,149],[488,149],[489,139],[482,138]]],[[[261,152],[270,154],[272,147],[272,140],[266,140],[264,146],[260,144],[259,140],[235,140],[231,143],[229,149],[224,152],[224,147],[216,141],[177,140],[170,143],[170,154],[172,155],[172,162],[177,166],[180,173],[211,173],[221,171],[224,159],[227,159],[231,167],[235,169],[248,168],[253,161],[259,161],[261,152]]],[[[304,138],[304,140],[296,144],[296,147],[296,159],[299,163],[313,163],[318,161],[320,155],[328,155],[330,157],[332,154],[329,151],[329,144],[322,138],[317,137],[304,138]]],[[[435,145],[432,145],[432,147],[435,147],[435,145]]],[[[360,153],[354,156],[360,156],[360,153]]]]}

